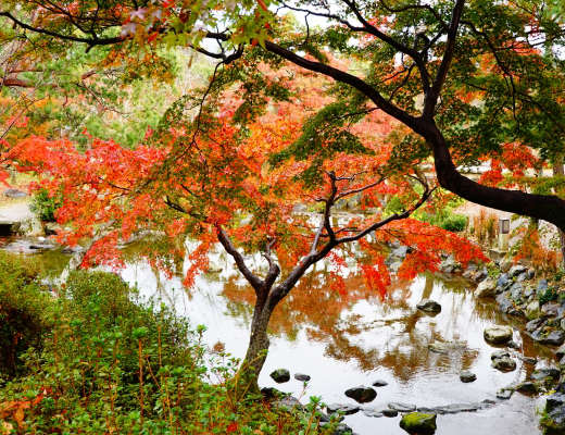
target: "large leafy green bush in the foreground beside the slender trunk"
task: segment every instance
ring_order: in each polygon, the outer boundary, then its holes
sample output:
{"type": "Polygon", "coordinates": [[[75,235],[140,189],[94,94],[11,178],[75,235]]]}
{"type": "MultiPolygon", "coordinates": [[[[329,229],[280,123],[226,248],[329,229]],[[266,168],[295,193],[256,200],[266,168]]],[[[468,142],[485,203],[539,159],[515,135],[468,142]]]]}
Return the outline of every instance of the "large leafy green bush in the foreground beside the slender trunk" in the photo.
{"type": "Polygon", "coordinates": [[[32,373],[0,389],[0,403],[12,410],[5,422],[17,433],[335,432],[337,422],[318,427],[319,399],[306,412],[287,412],[247,394],[237,360],[204,360],[204,327],[191,332],[166,306],[135,302],[120,277],[74,273],[63,294],[46,348],[24,356],[32,373]]]}

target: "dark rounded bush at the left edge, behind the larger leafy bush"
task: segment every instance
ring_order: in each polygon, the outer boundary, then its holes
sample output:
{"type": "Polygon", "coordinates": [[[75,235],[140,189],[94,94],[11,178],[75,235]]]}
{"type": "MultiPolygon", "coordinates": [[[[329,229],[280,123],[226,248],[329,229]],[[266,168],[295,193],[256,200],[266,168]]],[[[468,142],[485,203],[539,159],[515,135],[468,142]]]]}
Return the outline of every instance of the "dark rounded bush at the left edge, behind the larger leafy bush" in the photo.
{"type": "Polygon", "coordinates": [[[0,376],[23,373],[21,356],[40,349],[51,327],[51,296],[39,288],[35,258],[0,251],[0,376]]]}

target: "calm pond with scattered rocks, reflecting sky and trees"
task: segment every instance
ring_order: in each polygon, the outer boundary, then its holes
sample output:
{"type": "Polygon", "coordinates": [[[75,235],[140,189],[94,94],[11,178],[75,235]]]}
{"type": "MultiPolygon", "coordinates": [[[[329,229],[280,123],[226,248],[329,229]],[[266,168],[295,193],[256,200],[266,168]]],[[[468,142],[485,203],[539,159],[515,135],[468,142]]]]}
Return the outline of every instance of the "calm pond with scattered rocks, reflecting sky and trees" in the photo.
{"type": "MultiPolygon", "coordinates": [[[[59,271],[68,257],[46,252],[43,259],[59,271]]],[[[247,260],[255,270],[266,264],[260,257],[247,260]]],[[[302,395],[303,403],[310,396],[322,396],[326,403],[354,405],[346,389],[382,380],[388,385],[376,388],[377,398],[363,408],[386,408],[390,402],[438,407],[497,401],[476,412],[438,415],[437,435],[541,434],[536,415],[539,399],[518,393],[510,400],[495,397],[500,388],[524,381],[533,371],[518,355],[537,358],[537,368],[553,364],[551,350],[523,334],[523,322],[499,313],[493,302],[475,299],[473,285],[461,278],[422,275],[411,283],[393,283],[381,298],[365,288],[354,265],[341,271],[348,289],[344,295],[328,290],[330,271],[330,264],[318,263],[275,310],[260,386],[302,395]],[[441,312],[430,315],[417,310],[416,303],[424,298],[439,302],[441,312]],[[514,340],[522,345],[519,350],[510,349],[517,362],[513,372],[491,368],[490,356],[499,348],[485,341],[482,334],[492,324],[511,324],[514,340]],[[442,355],[428,348],[430,343],[449,340],[464,341],[466,350],[442,355]],[[290,371],[290,382],[276,384],[269,377],[280,368],[290,371]],[[462,383],[462,370],[472,371],[477,380],[462,383]],[[294,373],[312,376],[305,390],[294,373]]],[[[209,273],[197,278],[191,291],[183,289],[181,276],[167,279],[142,261],[128,262],[121,274],[143,297],[158,297],[194,326],[205,325],[204,339],[212,353],[244,356],[253,293],[224,252],[212,253],[209,273]]],[[[357,412],[347,415],[344,422],[359,435],[405,434],[399,426],[400,417],[372,418],[357,412]]]]}

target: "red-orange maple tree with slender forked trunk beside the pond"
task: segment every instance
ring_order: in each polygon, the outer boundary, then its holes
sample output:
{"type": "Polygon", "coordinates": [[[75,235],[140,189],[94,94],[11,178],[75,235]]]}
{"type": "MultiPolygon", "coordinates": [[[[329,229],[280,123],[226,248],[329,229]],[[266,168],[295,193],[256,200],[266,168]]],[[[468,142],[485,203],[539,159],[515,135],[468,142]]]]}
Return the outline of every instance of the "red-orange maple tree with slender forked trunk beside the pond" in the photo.
{"type": "MultiPolygon", "coordinates": [[[[400,173],[387,169],[392,145],[386,138],[393,129],[388,116],[374,112],[359,125],[342,127],[342,137],[357,133],[363,149],[287,158],[301,127],[307,128],[305,117],[332,97],[323,91],[319,78],[299,71],[291,80],[266,67],[263,73],[285,83],[289,98],[272,102],[272,110],[256,121],[235,121],[240,104],[236,89],[223,95],[219,110],[201,108],[197,99],[199,115],[191,121],[190,114],[168,112],[163,128],[149,129],[146,144],[135,149],[96,138],[84,153],[67,139],[30,137],[16,146],[20,170],[36,171],[42,175],[42,187],[64,196],[58,221],[72,225],[72,231],[59,234],[61,243],[91,238],[104,224],[84,266],[118,268],[120,243],[140,229],[153,231],[160,236],[143,254],[168,273],[187,256],[185,285],[190,287],[196,274],[208,270],[209,251],[219,243],[255,293],[246,356],[253,375],[261,371],[268,349],[273,310],[325,258],[337,268],[329,274],[329,290],[342,295],[347,288],[339,271],[351,256],[360,262],[367,289],[385,294],[390,284],[386,246],[394,240],[413,248],[399,270],[402,278],[437,271],[442,252],[452,252],[463,264],[488,261],[464,238],[409,219],[427,207],[434,182],[413,162],[400,173]],[[318,91],[304,94],[306,85],[318,91]],[[336,204],[354,195],[375,213],[335,216],[336,204]],[[385,215],[384,195],[403,196],[409,206],[385,215]],[[322,213],[296,213],[297,204],[321,204],[322,213]],[[187,236],[199,241],[188,252],[187,236]],[[352,253],[353,243],[359,243],[359,252],[352,253]],[[267,271],[251,270],[240,249],[263,252],[267,271]]],[[[254,378],[249,382],[256,386],[254,378]]]]}

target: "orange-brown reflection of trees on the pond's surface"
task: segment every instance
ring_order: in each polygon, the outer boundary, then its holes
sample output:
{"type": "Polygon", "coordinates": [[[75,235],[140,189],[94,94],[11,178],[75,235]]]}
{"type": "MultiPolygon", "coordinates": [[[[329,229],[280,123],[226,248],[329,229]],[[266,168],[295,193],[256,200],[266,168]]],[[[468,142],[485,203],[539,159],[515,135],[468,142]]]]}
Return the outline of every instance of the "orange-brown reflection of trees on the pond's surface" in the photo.
{"type": "MultiPolygon", "coordinates": [[[[476,357],[474,351],[445,356],[428,349],[430,341],[445,341],[447,337],[459,338],[457,333],[466,331],[466,325],[459,321],[461,312],[469,310],[468,298],[472,295],[469,291],[463,293],[465,283],[444,282],[432,275],[426,276],[422,298],[429,298],[434,290],[439,289],[441,297],[450,298],[450,304],[453,307],[452,310],[442,313],[442,322],[439,325],[434,321],[419,322],[428,314],[414,311],[410,306],[412,283],[395,283],[387,297],[380,300],[356,274],[346,277],[348,293],[344,295],[329,291],[327,281],[325,269],[312,270],[296,290],[277,307],[271,320],[269,333],[292,340],[299,331],[305,328],[310,340],[327,345],[327,357],[355,363],[362,371],[386,366],[399,380],[404,381],[411,378],[415,371],[431,368],[470,368],[476,357]],[[361,300],[368,302],[376,320],[350,312],[361,300]]],[[[249,324],[254,294],[249,287],[238,285],[237,282],[236,277],[230,277],[224,286],[223,295],[228,300],[230,315],[240,316],[249,324]]],[[[492,318],[491,312],[486,314],[487,311],[482,311],[476,315],[488,320],[492,318]]],[[[465,322],[468,322],[468,314],[466,319],[465,322]]]]}

